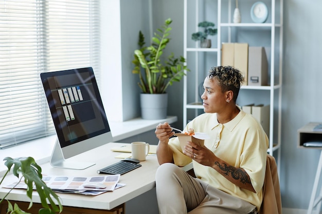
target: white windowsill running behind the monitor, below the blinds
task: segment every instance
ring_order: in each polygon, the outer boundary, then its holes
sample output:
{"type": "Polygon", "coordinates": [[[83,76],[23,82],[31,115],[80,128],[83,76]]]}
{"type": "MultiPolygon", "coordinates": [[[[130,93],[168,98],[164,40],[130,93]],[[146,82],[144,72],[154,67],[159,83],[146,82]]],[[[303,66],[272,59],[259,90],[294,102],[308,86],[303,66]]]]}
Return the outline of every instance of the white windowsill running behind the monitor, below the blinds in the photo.
{"type": "MultiPolygon", "coordinates": [[[[122,139],[153,130],[159,123],[174,123],[176,121],[176,116],[168,116],[164,120],[142,120],[141,118],[135,118],[125,122],[109,122],[109,125],[112,131],[113,141],[119,142],[122,139]]],[[[17,158],[28,156],[33,157],[37,164],[44,164],[50,160],[55,142],[56,135],[51,135],[19,146],[0,150],[0,160],[3,160],[5,157],[17,158]]],[[[4,176],[6,170],[7,167],[4,164],[0,164],[0,177],[4,176]]]]}

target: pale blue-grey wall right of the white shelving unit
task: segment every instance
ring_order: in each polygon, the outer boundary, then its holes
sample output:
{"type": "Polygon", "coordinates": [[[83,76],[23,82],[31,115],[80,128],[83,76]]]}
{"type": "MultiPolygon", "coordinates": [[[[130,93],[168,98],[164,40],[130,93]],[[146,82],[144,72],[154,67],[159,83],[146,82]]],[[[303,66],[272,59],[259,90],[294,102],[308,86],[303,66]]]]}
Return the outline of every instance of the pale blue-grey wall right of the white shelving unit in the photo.
{"type": "Polygon", "coordinates": [[[284,2],[282,203],[307,209],[320,150],[300,149],[296,142],[297,129],[309,122],[322,122],[322,1],[284,2]]]}

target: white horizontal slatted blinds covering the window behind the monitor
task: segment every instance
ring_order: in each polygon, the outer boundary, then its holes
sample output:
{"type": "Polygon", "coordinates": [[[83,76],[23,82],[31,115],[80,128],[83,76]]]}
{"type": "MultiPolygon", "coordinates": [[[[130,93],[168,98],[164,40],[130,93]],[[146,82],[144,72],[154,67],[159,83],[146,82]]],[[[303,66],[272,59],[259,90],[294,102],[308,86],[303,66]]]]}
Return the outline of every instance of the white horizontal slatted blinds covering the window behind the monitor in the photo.
{"type": "Polygon", "coordinates": [[[41,72],[93,67],[98,0],[0,2],[0,148],[55,133],[41,72]]]}

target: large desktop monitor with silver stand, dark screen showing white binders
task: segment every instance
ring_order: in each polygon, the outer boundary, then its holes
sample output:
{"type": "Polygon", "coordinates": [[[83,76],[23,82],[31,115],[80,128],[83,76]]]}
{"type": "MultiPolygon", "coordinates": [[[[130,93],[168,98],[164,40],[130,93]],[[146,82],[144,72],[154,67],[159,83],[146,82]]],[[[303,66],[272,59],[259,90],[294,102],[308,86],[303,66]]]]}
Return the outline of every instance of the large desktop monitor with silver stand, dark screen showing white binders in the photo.
{"type": "Polygon", "coordinates": [[[93,69],[46,72],[40,77],[57,133],[50,164],[69,169],[94,165],[68,160],[113,141],[93,69]]]}

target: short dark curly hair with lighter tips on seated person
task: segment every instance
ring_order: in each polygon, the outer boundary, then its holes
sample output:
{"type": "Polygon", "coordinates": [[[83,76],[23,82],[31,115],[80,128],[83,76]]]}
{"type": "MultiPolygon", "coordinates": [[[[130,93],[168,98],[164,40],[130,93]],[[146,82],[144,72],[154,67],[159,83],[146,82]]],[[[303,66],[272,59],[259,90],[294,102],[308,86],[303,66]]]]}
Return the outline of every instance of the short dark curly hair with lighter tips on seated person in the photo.
{"type": "Polygon", "coordinates": [[[236,103],[239,89],[244,83],[244,77],[237,68],[232,66],[211,67],[207,77],[209,80],[216,79],[222,92],[231,90],[234,93],[232,99],[236,103]]]}

